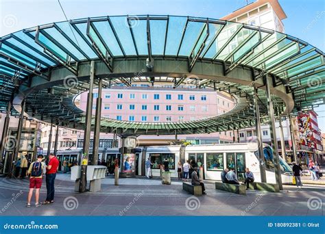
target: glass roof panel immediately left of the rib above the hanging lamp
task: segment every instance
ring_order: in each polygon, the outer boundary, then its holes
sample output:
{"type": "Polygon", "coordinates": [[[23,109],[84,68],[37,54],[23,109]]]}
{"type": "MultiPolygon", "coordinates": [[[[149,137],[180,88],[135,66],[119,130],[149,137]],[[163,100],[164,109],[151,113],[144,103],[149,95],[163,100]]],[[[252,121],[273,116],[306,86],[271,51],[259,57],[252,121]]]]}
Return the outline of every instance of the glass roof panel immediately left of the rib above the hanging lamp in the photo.
{"type": "Polygon", "coordinates": [[[138,49],[139,55],[147,55],[147,21],[137,18],[131,18],[129,21],[130,25],[132,25],[136,49],[138,49]]]}

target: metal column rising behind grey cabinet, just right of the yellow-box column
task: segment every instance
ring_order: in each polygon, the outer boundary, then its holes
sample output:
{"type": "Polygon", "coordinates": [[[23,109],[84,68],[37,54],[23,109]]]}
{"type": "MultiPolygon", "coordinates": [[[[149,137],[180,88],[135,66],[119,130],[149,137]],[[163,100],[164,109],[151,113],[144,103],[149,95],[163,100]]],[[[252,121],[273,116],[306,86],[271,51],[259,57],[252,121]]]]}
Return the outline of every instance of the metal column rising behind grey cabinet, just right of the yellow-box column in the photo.
{"type": "Polygon", "coordinates": [[[92,160],[93,165],[97,165],[97,162],[98,162],[99,133],[100,133],[100,119],[101,119],[101,89],[102,89],[102,87],[103,87],[103,80],[99,79],[98,96],[97,96],[97,101],[96,101],[96,114],[95,114],[95,131],[94,131],[93,160],[92,160]]]}

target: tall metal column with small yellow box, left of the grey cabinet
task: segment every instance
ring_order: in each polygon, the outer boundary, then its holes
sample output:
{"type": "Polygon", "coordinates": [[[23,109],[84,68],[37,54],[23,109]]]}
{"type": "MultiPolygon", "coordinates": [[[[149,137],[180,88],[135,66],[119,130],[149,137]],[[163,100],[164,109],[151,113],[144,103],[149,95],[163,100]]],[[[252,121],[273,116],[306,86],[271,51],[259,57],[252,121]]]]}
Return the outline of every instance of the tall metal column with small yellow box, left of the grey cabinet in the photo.
{"type": "Polygon", "coordinates": [[[91,61],[91,74],[89,77],[89,92],[87,96],[86,106],[86,122],[84,129],[84,147],[82,149],[83,157],[81,164],[81,178],[79,184],[79,192],[86,192],[87,187],[87,165],[89,156],[89,143],[91,141],[91,116],[93,111],[93,88],[95,78],[95,61],[91,61]]]}

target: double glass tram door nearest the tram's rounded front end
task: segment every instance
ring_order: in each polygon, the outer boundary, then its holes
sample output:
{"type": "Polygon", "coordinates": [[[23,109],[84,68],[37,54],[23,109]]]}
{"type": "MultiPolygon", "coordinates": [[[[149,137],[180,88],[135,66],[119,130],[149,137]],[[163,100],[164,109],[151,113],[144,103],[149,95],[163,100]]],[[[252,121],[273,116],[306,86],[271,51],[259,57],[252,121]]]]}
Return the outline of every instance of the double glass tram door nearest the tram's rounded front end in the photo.
{"type": "Polygon", "coordinates": [[[238,180],[245,180],[245,153],[227,153],[226,154],[227,168],[234,168],[238,180]]]}

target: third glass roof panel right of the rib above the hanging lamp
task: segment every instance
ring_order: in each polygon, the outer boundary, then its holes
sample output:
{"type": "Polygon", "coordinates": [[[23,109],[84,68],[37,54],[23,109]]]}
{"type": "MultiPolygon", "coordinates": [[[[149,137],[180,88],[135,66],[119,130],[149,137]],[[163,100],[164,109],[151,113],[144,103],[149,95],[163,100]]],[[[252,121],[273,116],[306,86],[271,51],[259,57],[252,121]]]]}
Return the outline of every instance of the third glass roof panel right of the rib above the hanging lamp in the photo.
{"type": "Polygon", "coordinates": [[[184,39],[182,41],[182,46],[180,47],[180,56],[189,56],[195,42],[200,36],[202,29],[204,29],[205,23],[189,21],[186,27],[184,39]]]}

